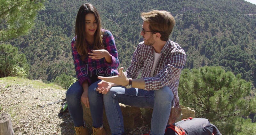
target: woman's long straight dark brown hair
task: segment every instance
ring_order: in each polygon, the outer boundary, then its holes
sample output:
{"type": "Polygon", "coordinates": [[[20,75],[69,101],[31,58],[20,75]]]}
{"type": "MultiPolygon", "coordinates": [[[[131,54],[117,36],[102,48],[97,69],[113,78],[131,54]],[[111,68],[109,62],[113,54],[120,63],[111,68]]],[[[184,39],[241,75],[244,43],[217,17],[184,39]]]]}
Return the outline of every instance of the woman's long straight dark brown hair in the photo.
{"type": "Polygon", "coordinates": [[[88,13],[93,13],[95,20],[97,22],[97,30],[94,33],[94,42],[92,45],[93,50],[104,49],[102,45],[102,32],[99,12],[92,4],[83,4],[76,16],[76,50],[78,54],[82,57],[82,60],[87,57],[87,45],[86,44],[86,33],[85,33],[85,15],[88,13]]]}

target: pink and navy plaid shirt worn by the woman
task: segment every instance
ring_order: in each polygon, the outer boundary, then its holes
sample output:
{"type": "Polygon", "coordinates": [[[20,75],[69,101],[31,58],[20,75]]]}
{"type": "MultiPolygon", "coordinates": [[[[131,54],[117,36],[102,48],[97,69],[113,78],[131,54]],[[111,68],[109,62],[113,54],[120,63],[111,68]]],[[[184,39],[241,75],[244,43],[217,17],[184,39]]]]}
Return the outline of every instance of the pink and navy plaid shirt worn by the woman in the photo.
{"type": "MultiPolygon", "coordinates": [[[[119,65],[117,58],[116,44],[113,35],[110,31],[101,29],[103,32],[102,41],[105,49],[111,55],[111,63],[108,63],[105,58],[99,60],[92,60],[88,56],[82,61],[81,56],[76,51],[76,37],[71,41],[72,56],[74,60],[76,77],[79,83],[82,85],[85,80],[88,81],[89,85],[99,80],[98,76],[113,76],[118,75],[116,70],[119,65]]],[[[87,46],[87,51],[91,52],[92,46],[87,46]]]]}

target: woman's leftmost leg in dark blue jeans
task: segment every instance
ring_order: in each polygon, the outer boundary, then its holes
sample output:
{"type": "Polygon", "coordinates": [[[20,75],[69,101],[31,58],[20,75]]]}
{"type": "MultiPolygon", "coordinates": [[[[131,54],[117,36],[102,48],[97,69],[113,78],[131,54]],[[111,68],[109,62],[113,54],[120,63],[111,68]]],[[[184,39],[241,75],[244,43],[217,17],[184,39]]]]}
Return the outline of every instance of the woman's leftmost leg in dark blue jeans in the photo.
{"type": "Polygon", "coordinates": [[[81,104],[81,96],[84,92],[83,87],[78,81],[73,83],[66,93],[68,103],[68,111],[73,120],[74,126],[80,127],[84,125],[83,108],[81,104]]]}

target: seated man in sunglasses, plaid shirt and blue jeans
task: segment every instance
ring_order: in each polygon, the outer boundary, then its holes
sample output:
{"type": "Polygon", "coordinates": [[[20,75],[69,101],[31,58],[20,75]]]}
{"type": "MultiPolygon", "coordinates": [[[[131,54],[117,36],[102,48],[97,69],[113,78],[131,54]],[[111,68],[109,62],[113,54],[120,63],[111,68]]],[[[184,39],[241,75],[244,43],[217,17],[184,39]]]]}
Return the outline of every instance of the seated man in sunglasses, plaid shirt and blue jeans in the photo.
{"type": "MultiPolygon", "coordinates": [[[[118,103],[153,108],[151,135],[163,135],[172,106],[179,107],[177,89],[186,54],[179,44],[168,39],[175,20],[169,12],[156,10],[141,13],[141,18],[143,42],[133,53],[129,68],[125,73],[120,68],[116,76],[99,76],[103,81],[98,83],[96,91],[93,86],[89,88],[89,100],[102,100],[103,95],[108,123],[114,135],[124,134],[118,103]],[[136,79],[140,71],[142,78],[136,79]]],[[[96,107],[90,101],[90,108],[96,107]]]]}

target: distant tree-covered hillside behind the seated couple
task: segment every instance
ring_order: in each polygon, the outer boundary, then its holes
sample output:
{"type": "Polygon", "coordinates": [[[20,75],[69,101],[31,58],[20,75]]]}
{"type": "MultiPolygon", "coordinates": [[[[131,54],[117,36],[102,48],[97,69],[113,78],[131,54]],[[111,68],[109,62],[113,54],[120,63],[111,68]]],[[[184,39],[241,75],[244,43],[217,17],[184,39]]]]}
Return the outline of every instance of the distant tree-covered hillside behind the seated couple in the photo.
{"type": "Polygon", "coordinates": [[[124,68],[142,41],[140,12],[166,10],[176,19],[170,39],[186,51],[186,68],[222,66],[256,82],[256,15],[247,15],[256,13],[256,5],[243,0],[46,1],[31,33],[6,42],[26,55],[30,79],[53,82],[61,74],[76,77],[70,42],[83,3],[99,10],[103,28],[114,35],[124,68]]]}

